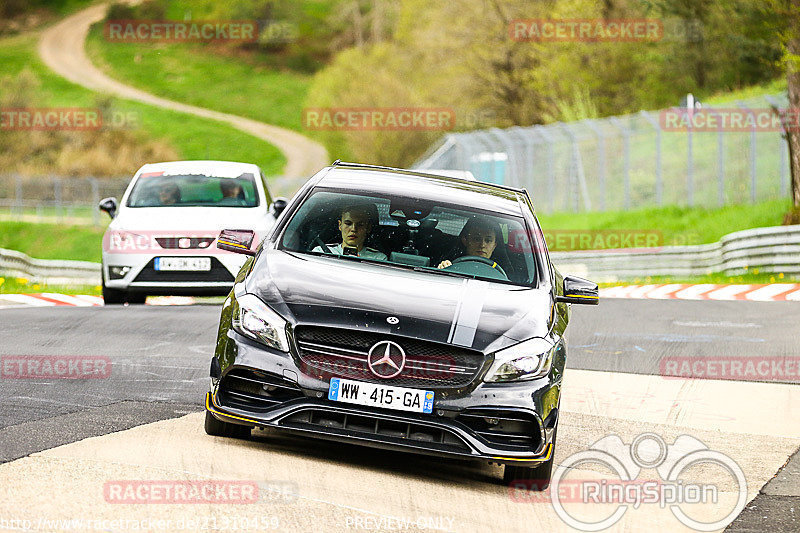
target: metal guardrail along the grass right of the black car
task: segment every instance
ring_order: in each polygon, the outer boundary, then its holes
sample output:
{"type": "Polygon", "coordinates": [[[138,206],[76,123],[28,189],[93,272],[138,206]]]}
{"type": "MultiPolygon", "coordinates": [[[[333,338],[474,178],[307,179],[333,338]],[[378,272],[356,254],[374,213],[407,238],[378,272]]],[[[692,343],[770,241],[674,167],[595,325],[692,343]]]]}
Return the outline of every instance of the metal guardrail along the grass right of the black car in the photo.
{"type": "Polygon", "coordinates": [[[738,276],[754,269],[800,274],[800,225],[737,231],[713,244],[652,250],[553,252],[550,259],[562,274],[600,282],[715,273],[738,276]]]}

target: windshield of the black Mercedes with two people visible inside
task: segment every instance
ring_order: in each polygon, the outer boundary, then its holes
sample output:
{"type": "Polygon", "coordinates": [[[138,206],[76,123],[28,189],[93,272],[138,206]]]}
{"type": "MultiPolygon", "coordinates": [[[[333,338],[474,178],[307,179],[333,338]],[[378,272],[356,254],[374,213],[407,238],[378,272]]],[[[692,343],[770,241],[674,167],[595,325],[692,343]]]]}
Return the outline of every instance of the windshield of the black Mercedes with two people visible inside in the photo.
{"type": "Polygon", "coordinates": [[[521,217],[318,189],[289,221],[280,248],[529,286],[536,261],[527,235],[521,217]]]}

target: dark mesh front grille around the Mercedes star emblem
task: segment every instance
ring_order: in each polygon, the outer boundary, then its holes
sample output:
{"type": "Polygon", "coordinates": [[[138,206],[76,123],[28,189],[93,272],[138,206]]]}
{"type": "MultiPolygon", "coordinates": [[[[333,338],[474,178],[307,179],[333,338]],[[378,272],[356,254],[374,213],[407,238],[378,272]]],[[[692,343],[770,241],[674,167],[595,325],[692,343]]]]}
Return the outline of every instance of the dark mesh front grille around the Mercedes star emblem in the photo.
{"type": "Polygon", "coordinates": [[[472,382],[484,362],[479,352],[366,331],[298,326],[295,338],[303,371],[326,381],[342,377],[401,387],[458,388],[472,382]],[[375,376],[367,363],[370,348],[384,340],[406,353],[403,371],[390,379],[375,376]]]}

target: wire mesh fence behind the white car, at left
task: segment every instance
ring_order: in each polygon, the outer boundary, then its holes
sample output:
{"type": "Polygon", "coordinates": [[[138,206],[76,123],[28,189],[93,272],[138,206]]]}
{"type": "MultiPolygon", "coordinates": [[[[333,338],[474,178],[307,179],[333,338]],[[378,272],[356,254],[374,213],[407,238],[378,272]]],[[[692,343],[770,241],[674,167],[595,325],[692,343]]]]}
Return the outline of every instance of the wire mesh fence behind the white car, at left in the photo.
{"type": "MultiPolygon", "coordinates": [[[[97,204],[122,198],[130,177],[29,177],[0,175],[0,219],[100,225],[107,220],[97,204]]],[[[291,197],[306,178],[271,178],[273,197],[291,197]]]]}

